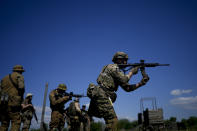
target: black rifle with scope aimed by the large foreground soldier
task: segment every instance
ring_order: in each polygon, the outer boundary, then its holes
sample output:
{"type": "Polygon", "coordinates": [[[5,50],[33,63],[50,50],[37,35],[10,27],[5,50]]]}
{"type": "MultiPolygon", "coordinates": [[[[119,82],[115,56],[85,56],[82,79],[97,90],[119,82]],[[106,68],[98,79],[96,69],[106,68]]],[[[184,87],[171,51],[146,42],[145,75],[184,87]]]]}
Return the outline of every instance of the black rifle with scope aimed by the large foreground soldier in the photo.
{"type": "Polygon", "coordinates": [[[140,60],[140,63],[129,63],[129,64],[119,64],[124,72],[132,69],[133,67],[139,66],[140,68],[145,67],[156,67],[156,66],[169,66],[170,64],[160,64],[160,63],[144,63],[145,60],[140,60]],[[128,67],[128,69],[126,69],[128,67]]]}

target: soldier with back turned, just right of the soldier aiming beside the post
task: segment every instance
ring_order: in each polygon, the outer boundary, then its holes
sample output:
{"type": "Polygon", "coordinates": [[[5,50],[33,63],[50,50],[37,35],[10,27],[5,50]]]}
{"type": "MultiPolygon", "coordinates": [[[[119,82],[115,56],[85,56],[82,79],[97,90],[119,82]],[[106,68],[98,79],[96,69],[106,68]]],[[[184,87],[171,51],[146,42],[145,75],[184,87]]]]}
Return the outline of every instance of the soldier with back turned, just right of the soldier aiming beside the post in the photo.
{"type": "Polygon", "coordinates": [[[68,117],[70,118],[69,131],[80,131],[81,109],[79,105],[79,98],[76,97],[75,100],[70,103],[68,108],[68,117]]]}

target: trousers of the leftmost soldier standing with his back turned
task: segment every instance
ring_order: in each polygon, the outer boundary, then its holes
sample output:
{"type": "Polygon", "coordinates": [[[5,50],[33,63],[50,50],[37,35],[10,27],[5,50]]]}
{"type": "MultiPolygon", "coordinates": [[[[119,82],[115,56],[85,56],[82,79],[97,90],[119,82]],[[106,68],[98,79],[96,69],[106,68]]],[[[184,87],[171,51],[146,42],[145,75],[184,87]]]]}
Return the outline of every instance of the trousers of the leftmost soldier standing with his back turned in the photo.
{"type": "Polygon", "coordinates": [[[8,107],[7,111],[1,116],[0,131],[8,131],[11,121],[10,131],[20,131],[21,116],[19,107],[8,107]]]}

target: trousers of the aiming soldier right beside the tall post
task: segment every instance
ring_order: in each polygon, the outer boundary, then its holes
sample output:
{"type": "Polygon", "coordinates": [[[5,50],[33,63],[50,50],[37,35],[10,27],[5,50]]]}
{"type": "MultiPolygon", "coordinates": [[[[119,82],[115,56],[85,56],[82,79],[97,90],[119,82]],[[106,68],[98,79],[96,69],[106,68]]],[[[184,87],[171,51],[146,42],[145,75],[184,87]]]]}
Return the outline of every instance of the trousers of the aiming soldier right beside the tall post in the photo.
{"type": "Polygon", "coordinates": [[[58,129],[61,131],[64,128],[65,119],[64,114],[59,111],[52,111],[51,113],[51,121],[50,121],[50,131],[58,129]]]}

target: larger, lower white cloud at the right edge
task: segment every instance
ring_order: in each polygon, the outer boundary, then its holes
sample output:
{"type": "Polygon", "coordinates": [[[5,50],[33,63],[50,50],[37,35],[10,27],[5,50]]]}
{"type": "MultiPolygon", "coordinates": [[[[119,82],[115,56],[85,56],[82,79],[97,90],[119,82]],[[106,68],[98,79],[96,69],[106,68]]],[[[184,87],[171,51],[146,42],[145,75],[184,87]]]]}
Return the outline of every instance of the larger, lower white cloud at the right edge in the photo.
{"type": "Polygon", "coordinates": [[[184,109],[197,109],[197,96],[194,97],[178,97],[170,100],[170,103],[184,109]]]}

